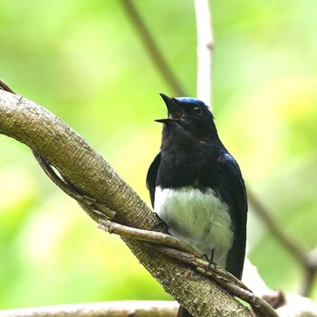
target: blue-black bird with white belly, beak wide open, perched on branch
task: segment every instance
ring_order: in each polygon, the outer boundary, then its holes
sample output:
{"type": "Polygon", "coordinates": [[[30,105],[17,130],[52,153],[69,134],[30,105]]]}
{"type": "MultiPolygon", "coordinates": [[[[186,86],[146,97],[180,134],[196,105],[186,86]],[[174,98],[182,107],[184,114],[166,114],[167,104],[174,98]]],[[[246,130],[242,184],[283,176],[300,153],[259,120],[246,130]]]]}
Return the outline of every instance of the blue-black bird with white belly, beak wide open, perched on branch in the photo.
{"type": "MultiPolygon", "coordinates": [[[[219,139],[214,116],[196,98],[160,93],[168,109],[147,187],[168,232],[241,279],[247,198],[239,165],[219,139]]],[[[192,316],[180,306],[178,317],[192,316]]]]}

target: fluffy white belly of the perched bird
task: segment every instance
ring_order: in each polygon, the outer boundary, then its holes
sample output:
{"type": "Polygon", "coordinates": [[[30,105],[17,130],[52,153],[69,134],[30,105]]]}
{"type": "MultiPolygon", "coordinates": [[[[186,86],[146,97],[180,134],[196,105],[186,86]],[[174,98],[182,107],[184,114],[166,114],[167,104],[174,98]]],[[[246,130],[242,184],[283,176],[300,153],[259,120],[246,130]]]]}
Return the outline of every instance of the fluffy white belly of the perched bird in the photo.
{"type": "Polygon", "coordinates": [[[214,249],[214,262],[226,267],[234,232],[228,207],[212,189],[156,187],[154,211],[171,235],[209,258],[214,249]]]}

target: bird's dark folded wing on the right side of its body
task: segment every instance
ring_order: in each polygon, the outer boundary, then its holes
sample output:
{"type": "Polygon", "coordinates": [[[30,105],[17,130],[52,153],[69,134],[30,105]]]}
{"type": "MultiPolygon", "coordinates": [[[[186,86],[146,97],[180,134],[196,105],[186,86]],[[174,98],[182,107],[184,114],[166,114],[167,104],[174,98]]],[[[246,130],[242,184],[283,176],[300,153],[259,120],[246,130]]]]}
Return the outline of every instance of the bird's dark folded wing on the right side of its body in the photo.
{"type": "Polygon", "coordinates": [[[245,239],[247,199],[245,182],[240,168],[235,159],[228,153],[219,158],[226,170],[226,176],[230,180],[230,214],[235,227],[235,239],[226,261],[226,270],[241,278],[245,262],[245,239]]]}

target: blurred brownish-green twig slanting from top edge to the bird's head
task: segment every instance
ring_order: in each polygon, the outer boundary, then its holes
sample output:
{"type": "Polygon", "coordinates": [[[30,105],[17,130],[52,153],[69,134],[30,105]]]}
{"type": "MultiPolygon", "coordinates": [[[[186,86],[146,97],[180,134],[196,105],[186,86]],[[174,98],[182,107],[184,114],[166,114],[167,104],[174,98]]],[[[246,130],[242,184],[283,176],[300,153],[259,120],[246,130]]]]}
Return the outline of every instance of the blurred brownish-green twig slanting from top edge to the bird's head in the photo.
{"type": "Polygon", "coordinates": [[[166,62],[164,55],[159,50],[159,45],[155,43],[154,37],[149,33],[149,28],[140,17],[133,2],[131,0],[121,0],[120,3],[130,17],[130,21],[136,28],[144,47],[165,81],[176,95],[185,96],[185,91],[183,91],[181,84],[168,66],[168,62],[166,62]]]}

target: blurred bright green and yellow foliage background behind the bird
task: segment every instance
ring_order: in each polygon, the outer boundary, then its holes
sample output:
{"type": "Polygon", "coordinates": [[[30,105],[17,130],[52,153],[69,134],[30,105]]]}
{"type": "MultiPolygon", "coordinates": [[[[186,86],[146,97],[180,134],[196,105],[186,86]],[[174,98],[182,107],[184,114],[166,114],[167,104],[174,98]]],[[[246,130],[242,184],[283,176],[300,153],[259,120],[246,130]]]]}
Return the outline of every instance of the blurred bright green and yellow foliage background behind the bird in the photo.
{"type": "MultiPolygon", "coordinates": [[[[187,94],[196,94],[192,1],[135,0],[187,94]]],[[[248,187],[307,250],[316,246],[317,35],[313,0],[213,1],[214,113],[248,187]]],[[[149,203],[159,92],[173,95],[116,0],[4,1],[0,77],[82,134],[149,203]]],[[[117,236],[97,229],[0,136],[0,309],[170,299],[117,236]]],[[[248,254],[272,288],[302,272],[252,209],[248,254]]],[[[317,297],[315,287],[314,297],[317,297]]]]}

